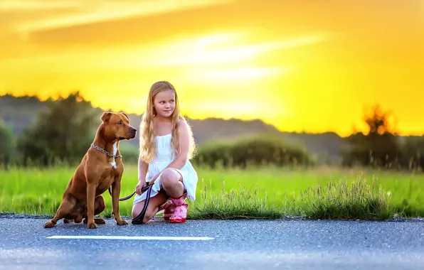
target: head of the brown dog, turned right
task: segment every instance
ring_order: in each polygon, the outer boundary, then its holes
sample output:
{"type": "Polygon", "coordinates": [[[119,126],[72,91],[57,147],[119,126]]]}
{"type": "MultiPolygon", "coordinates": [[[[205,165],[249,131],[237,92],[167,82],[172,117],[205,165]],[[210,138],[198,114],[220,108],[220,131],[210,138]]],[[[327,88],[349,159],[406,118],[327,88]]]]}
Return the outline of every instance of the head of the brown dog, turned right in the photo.
{"type": "Polygon", "coordinates": [[[100,118],[105,125],[103,135],[110,139],[134,139],[137,129],[129,125],[129,118],[124,112],[105,112],[100,118]]]}

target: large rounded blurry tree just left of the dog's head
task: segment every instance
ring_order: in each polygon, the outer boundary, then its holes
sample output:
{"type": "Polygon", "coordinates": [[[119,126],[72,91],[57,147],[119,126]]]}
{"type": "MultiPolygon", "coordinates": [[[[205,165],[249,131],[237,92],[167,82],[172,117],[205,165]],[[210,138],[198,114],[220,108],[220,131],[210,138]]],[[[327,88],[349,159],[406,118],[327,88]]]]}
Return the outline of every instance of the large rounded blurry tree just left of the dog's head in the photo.
{"type": "Polygon", "coordinates": [[[79,92],[48,102],[48,112],[23,131],[18,147],[27,158],[51,165],[56,158],[70,164],[80,161],[95,134],[98,112],[79,92]]]}

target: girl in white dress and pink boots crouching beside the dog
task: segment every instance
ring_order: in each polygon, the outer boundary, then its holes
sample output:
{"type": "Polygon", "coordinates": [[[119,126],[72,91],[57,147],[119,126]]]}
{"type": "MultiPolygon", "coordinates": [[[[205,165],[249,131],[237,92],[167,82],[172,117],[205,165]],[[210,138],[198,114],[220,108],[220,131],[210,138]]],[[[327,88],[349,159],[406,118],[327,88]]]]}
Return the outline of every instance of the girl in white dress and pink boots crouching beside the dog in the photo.
{"type": "Polygon", "coordinates": [[[191,128],[179,111],[176,90],[169,82],[155,82],[150,87],[139,137],[139,183],[132,223],[144,224],[163,208],[165,220],[185,222],[188,210],[185,198],[196,200],[198,176],[189,161],[194,156],[195,144],[191,128]],[[147,180],[153,184],[151,190],[146,188],[147,180]],[[140,215],[143,210],[144,217],[140,215]]]}

